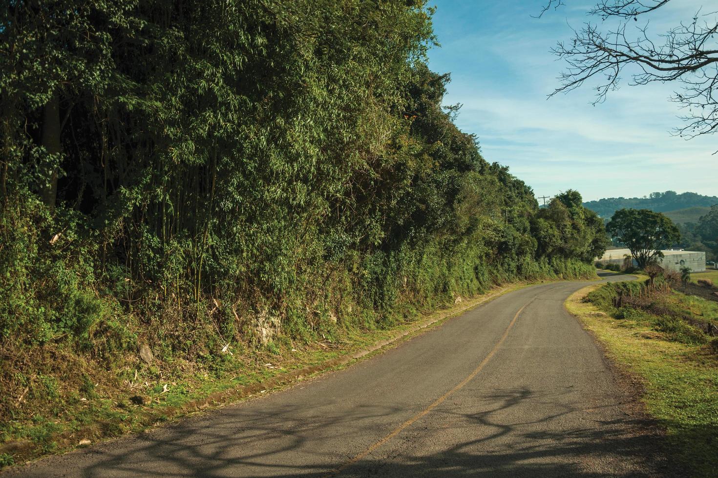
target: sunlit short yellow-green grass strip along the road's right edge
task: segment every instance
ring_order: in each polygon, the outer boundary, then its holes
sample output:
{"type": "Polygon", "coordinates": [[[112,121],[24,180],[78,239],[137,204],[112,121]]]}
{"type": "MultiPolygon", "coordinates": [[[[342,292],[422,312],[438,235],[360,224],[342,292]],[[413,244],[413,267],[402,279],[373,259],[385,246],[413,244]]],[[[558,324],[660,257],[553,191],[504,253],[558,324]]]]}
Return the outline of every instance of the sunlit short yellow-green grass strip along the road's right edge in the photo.
{"type": "Polygon", "coordinates": [[[661,468],[667,476],[716,476],[716,460],[707,456],[710,447],[704,443],[714,432],[707,431],[698,414],[707,412],[702,407],[713,406],[701,396],[706,381],[716,386],[718,371],[706,360],[693,360],[688,345],[661,340],[655,330],[616,319],[587,302],[586,296],[598,287],[602,285],[574,292],[564,306],[593,336],[630,397],[625,413],[645,418],[645,429],[637,433],[659,438],[657,451],[666,457],[661,468]],[[690,414],[696,414],[695,420],[690,414]]]}

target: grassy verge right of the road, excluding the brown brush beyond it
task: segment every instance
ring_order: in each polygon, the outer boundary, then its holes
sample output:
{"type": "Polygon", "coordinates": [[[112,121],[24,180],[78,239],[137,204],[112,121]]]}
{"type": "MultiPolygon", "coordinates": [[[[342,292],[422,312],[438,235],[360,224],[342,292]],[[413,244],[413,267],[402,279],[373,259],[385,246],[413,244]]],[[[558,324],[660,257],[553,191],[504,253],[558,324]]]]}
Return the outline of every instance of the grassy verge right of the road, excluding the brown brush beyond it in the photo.
{"type": "MultiPolygon", "coordinates": [[[[695,477],[717,476],[718,355],[714,343],[691,333],[686,324],[671,324],[668,315],[634,311],[632,316],[625,307],[616,310],[601,303],[595,295],[604,293],[603,287],[589,286],[574,293],[566,302],[567,309],[595,334],[615,363],[643,382],[646,411],[666,429],[676,469],[689,470],[695,477]],[[587,302],[591,292],[599,305],[587,302]]],[[[684,309],[686,319],[689,315],[718,318],[715,306],[705,300],[676,292],[667,300],[684,309]]]]}

